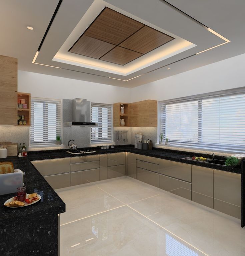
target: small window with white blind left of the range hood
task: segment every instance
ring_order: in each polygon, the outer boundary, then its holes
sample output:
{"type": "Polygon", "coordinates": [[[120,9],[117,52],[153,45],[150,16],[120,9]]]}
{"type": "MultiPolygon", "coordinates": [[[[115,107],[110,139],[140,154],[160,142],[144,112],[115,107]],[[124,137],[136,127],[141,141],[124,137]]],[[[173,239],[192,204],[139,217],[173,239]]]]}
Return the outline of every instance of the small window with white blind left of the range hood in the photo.
{"type": "Polygon", "coordinates": [[[61,136],[61,101],[31,98],[30,146],[56,144],[61,136]]]}

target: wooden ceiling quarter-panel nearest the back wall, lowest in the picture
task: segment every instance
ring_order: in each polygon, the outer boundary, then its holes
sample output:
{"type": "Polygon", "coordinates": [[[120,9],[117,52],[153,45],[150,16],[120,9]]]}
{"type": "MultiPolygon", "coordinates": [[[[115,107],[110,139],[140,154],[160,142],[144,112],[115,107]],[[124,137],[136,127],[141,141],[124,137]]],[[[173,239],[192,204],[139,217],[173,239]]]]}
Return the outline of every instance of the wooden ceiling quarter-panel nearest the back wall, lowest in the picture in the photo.
{"type": "Polygon", "coordinates": [[[116,46],[111,51],[106,53],[100,59],[113,62],[119,65],[125,65],[128,62],[142,56],[143,54],[135,51],[131,51],[129,49],[122,48],[120,46],[116,46]]]}

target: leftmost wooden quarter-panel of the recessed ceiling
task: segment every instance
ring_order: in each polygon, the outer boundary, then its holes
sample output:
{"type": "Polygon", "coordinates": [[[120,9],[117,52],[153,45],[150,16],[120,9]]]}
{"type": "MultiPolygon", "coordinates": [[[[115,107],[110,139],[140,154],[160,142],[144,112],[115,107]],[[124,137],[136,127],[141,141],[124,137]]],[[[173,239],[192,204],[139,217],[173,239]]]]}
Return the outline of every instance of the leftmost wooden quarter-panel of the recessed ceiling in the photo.
{"type": "Polygon", "coordinates": [[[70,52],[99,59],[116,45],[82,35],[71,47],[70,52]]]}

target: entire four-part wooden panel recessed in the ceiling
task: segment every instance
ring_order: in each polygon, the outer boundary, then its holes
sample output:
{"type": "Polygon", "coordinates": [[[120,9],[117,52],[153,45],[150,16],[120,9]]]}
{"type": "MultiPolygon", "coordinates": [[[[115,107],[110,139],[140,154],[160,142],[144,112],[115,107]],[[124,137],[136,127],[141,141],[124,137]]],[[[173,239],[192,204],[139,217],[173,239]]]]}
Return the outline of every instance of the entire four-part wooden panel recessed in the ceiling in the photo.
{"type": "Polygon", "coordinates": [[[69,51],[125,65],[173,39],[105,7],[69,51]]]}

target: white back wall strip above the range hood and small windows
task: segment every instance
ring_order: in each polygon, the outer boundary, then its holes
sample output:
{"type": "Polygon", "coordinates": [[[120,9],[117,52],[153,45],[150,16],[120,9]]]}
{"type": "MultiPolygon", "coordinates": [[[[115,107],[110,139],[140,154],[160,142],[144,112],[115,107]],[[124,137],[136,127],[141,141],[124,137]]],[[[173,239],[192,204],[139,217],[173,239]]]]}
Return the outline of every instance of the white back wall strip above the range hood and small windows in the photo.
{"type": "Polygon", "coordinates": [[[18,71],[18,92],[50,99],[82,98],[97,103],[127,102],[130,89],[75,79],[18,71]]]}

